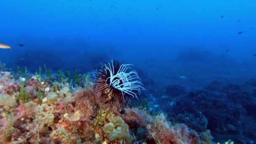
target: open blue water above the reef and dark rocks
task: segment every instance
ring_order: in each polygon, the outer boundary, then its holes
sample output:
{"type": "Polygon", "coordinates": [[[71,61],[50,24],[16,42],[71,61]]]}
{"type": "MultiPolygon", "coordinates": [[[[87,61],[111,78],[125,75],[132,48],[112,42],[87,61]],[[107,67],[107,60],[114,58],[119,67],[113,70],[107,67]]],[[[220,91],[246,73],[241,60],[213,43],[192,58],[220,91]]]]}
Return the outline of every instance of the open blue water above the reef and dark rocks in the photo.
{"type": "MultiPolygon", "coordinates": [[[[0,5],[0,43],[12,47],[0,49],[0,60],[11,69],[35,71],[45,64],[53,71],[85,73],[118,59],[134,64],[148,93],[159,99],[168,94],[167,85],[189,92],[214,80],[225,88],[256,78],[255,0],[0,0],[0,5]]],[[[245,87],[256,96],[256,87],[245,87]]],[[[256,110],[255,104],[250,109],[256,110]]],[[[255,123],[255,115],[247,116],[245,125],[255,123]]],[[[215,136],[227,134],[225,139],[239,133],[225,128],[208,126],[215,136]]],[[[255,141],[255,128],[250,131],[254,135],[243,133],[241,139],[255,141]]]]}

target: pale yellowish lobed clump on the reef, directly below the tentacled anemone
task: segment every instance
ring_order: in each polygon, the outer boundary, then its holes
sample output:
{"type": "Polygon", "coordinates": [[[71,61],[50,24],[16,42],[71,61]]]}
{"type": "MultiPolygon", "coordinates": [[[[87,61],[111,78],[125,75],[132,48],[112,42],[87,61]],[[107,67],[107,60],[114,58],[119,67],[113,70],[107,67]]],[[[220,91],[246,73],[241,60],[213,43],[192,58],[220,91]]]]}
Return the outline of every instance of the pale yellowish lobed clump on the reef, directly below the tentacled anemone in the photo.
{"type": "Polygon", "coordinates": [[[129,127],[122,117],[109,117],[109,123],[104,125],[103,131],[107,134],[109,141],[113,141],[116,138],[124,138],[128,143],[133,141],[133,137],[129,133],[129,127]]]}

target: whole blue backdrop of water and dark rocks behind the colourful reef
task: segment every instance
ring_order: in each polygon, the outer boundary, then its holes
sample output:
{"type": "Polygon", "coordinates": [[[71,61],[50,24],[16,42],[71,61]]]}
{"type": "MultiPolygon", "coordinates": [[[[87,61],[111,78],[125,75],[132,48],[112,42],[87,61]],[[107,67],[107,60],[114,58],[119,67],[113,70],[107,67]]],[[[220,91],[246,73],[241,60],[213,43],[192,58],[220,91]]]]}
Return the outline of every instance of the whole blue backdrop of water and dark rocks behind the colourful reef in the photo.
{"type": "MultiPolygon", "coordinates": [[[[29,81],[38,67],[52,75],[61,69],[66,78],[67,72],[86,77],[100,64],[123,61],[138,72],[145,88],[139,101],[152,115],[163,112],[198,135],[210,130],[213,139],[206,143],[256,141],[255,0],[0,0],[0,5],[0,43],[11,46],[0,49],[1,71],[12,72],[15,82],[29,81]],[[29,76],[21,72],[25,67],[29,76]]],[[[141,143],[154,143],[137,136],[141,143]]],[[[20,143],[35,142],[26,141],[20,143]]],[[[67,141],[61,143],[74,143],[67,141]]]]}

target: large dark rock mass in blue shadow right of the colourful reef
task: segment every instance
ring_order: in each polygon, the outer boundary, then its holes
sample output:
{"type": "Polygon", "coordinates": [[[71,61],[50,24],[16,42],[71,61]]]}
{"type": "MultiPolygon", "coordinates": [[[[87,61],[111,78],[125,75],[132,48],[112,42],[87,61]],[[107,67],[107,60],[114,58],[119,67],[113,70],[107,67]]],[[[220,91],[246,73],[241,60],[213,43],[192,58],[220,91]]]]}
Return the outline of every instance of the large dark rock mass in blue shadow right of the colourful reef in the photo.
{"type": "MultiPolygon", "coordinates": [[[[168,109],[168,115],[196,131],[209,129],[213,137],[218,137],[221,132],[225,136],[231,135],[234,141],[240,141],[236,136],[253,127],[253,119],[248,116],[254,116],[253,112],[256,111],[256,103],[250,94],[241,89],[240,85],[227,85],[226,93],[205,90],[189,92],[175,100],[175,104],[168,109]]],[[[243,136],[253,139],[256,129],[250,129],[249,133],[253,134],[243,136]]]]}

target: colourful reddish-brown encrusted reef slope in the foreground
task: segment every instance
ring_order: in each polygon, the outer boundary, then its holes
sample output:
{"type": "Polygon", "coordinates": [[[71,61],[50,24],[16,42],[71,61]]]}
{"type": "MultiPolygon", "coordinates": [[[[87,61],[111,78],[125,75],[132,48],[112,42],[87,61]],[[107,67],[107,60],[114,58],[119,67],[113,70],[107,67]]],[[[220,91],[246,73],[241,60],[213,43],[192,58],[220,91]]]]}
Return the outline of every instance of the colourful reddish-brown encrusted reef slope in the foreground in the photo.
{"type": "Polygon", "coordinates": [[[26,102],[16,99],[19,79],[11,78],[10,73],[0,77],[0,99],[9,99],[0,101],[1,144],[206,144],[200,134],[184,124],[168,122],[161,113],[149,115],[147,109],[133,107],[120,112],[120,101],[111,105],[101,101],[102,93],[95,92],[97,88],[88,78],[87,86],[73,88],[64,75],[51,83],[53,76],[48,74],[47,80],[28,76],[24,81],[26,102]],[[4,129],[12,132],[7,138],[4,129]]]}

